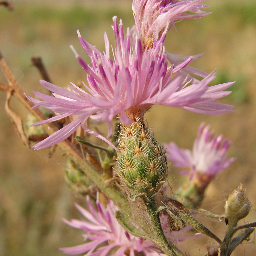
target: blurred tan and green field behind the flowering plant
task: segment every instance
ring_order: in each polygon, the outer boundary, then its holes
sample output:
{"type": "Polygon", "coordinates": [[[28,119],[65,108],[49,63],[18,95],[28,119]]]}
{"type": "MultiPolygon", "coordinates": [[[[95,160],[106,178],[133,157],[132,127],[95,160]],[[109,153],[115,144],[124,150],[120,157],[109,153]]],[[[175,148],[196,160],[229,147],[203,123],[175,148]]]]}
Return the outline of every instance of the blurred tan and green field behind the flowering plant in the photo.
{"type": "MultiPolygon", "coordinates": [[[[124,28],[134,24],[130,1],[14,1],[10,12],[0,6],[0,50],[24,91],[43,92],[38,71],[31,57],[41,56],[53,81],[59,86],[86,81],[86,73],[69,47],[86,56],[77,39],[79,29],[84,39],[104,50],[103,33],[115,45],[112,16],[123,19],[124,28]]],[[[203,207],[223,213],[224,199],[240,183],[252,201],[251,213],[245,222],[255,222],[256,210],[256,1],[208,0],[212,14],[176,24],[165,42],[167,50],[183,56],[206,53],[192,63],[211,72],[217,68],[214,83],[237,81],[233,93],[221,102],[236,105],[236,112],[206,116],[182,109],[153,106],[147,121],[156,138],[191,148],[202,121],[217,134],[232,140],[229,155],[237,160],[210,184],[203,207]]],[[[5,83],[0,72],[0,82],[5,83]]],[[[61,218],[80,218],[74,202],[85,205],[64,181],[66,158],[57,150],[48,158],[48,150],[28,150],[19,140],[4,112],[5,93],[0,92],[0,255],[52,256],[63,255],[58,247],[82,243],[82,232],[68,227],[61,218]]],[[[13,108],[24,118],[26,110],[12,101],[13,108]]],[[[170,185],[181,182],[179,170],[170,166],[170,185]]],[[[211,225],[223,236],[225,224],[211,225]]],[[[202,238],[202,243],[207,241],[202,238]]],[[[207,252],[193,241],[191,255],[207,252]]],[[[191,246],[191,244],[186,246],[191,246]]],[[[254,234],[251,241],[237,248],[234,255],[254,255],[254,234]]],[[[188,250],[189,251],[189,250],[188,250]]]]}

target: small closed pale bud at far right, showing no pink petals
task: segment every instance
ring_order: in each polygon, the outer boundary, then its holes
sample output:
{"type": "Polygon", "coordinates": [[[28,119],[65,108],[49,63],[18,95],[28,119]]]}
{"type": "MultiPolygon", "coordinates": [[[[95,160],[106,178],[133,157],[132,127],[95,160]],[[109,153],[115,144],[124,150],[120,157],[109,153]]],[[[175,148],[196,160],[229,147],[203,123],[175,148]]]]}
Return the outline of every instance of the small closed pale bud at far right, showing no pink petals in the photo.
{"type": "Polygon", "coordinates": [[[225,204],[225,217],[228,220],[240,219],[247,216],[251,210],[251,202],[248,200],[245,189],[241,184],[232,194],[229,195],[225,204]]]}

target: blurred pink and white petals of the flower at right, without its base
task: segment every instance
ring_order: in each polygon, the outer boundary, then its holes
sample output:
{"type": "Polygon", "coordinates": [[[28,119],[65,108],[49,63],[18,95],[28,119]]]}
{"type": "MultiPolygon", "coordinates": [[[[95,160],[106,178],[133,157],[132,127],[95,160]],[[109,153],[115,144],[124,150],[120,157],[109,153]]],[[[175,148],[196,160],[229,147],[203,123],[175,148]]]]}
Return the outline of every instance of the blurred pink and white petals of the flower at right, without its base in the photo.
{"type": "Polygon", "coordinates": [[[198,129],[197,138],[194,142],[193,151],[180,149],[174,142],[167,144],[167,156],[175,163],[176,167],[188,168],[191,177],[197,174],[206,174],[208,182],[235,160],[234,157],[227,158],[226,152],[230,141],[222,142],[223,136],[214,138],[214,131],[210,132],[210,126],[202,123],[198,129]]]}

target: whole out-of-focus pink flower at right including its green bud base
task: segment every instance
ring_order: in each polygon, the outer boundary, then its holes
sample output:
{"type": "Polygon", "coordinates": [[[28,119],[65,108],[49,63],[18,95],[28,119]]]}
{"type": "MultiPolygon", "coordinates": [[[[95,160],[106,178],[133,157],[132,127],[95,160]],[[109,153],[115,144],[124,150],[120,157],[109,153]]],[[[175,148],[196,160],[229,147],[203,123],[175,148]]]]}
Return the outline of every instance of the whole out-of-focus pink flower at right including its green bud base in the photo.
{"type": "Polygon", "coordinates": [[[177,147],[175,143],[166,144],[167,156],[176,167],[187,169],[180,174],[190,176],[177,188],[175,199],[189,209],[200,207],[204,191],[217,173],[226,169],[235,158],[228,158],[226,152],[230,142],[222,142],[223,136],[214,138],[210,126],[202,123],[198,129],[193,150],[177,147]]]}

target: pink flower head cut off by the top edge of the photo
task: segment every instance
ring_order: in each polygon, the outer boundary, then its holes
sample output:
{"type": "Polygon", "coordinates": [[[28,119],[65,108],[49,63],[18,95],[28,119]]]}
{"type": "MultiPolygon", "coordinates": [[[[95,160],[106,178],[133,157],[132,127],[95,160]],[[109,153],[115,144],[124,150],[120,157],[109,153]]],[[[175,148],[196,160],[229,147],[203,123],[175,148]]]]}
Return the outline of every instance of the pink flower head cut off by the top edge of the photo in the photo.
{"type": "Polygon", "coordinates": [[[202,1],[133,0],[133,16],[145,48],[152,47],[154,42],[160,39],[163,31],[168,31],[172,26],[175,28],[176,20],[208,15],[209,13],[202,11],[202,8],[208,7],[199,4],[202,1]]]}

